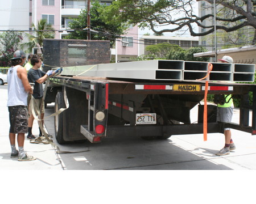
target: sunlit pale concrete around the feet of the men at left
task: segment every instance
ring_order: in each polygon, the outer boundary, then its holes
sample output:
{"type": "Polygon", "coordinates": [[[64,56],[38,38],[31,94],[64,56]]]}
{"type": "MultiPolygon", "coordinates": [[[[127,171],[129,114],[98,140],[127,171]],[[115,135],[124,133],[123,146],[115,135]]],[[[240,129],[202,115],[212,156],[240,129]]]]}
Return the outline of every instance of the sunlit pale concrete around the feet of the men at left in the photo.
{"type": "MultiPolygon", "coordinates": [[[[1,170],[62,170],[59,156],[51,145],[32,144],[26,138],[24,150],[28,155],[36,156],[36,160],[29,162],[18,162],[18,158],[10,158],[11,147],[9,141],[9,112],[7,104],[7,84],[0,87],[0,169],[1,170]]],[[[32,133],[35,137],[39,135],[38,123],[34,120],[32,133]]],[[[18,143],[16,143],[18,149],[18,143]]]]}

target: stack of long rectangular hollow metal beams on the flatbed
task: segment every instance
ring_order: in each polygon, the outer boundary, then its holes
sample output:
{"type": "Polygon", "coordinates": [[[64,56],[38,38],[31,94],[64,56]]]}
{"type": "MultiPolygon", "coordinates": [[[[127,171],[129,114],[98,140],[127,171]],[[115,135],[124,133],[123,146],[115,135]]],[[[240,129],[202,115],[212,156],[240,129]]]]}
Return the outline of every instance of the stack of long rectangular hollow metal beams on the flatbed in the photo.
{"type": "Polygon", "coordinates": [[[121,79],[254,82],[255,65],[173,60],[148,60],[64,67],[61,75],[99,76],[121,79]]]}

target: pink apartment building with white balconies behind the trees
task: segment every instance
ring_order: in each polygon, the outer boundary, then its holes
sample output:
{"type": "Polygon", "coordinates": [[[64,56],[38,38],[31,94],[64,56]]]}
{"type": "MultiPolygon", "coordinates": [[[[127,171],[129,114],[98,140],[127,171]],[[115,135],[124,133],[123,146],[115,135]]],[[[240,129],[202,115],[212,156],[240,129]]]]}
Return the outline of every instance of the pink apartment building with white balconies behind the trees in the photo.
{"type": "MultiPolygon", "coordinates": [[[[30,2],[30,28],[31,24],[37,24],[38,20],[44,18],[56,29],[55,39],[62,39],[68,35],[69,21],[77,18],[81,9],[87,8],[84,0],[32,0],[30,2]]],[[[92,2],[92,1],[91,1],[92,2]]],[[[110,5],[112,1],[100,1],[110,5]]],[[[127,34],[118,39],[117,49],[112,49],[112,58],[118,62],[130,61],[138,56],[138,27],[131,27],[127,34]],[[116,54],[117,50],[117,54],[116,54]]]]}

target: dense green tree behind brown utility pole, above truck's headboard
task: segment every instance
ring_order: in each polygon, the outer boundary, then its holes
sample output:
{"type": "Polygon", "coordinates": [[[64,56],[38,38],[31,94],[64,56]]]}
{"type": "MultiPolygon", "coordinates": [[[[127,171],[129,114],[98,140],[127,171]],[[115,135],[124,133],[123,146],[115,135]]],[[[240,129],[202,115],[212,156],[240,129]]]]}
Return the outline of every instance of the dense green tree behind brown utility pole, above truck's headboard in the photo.
{"type": "MultiPolygon", "coordinates": [[[[108,22],[103,14],[108,7],[100,5],[98,1],[92,3],[92,8],[90,8],[90,27],[98,32],[91,32],[90,39],[110,40],[110,44],[113,45],[115,39],[120,38],[128,27],[124,23],[108,22]]],[[[87,9],[82,10],[78,18],[73,18],[69,26],[71,29],[75,29],[75,32],[69,33],[66,39],[86,40],[87,32],[82,29],[87,26],[87,9]]]]}

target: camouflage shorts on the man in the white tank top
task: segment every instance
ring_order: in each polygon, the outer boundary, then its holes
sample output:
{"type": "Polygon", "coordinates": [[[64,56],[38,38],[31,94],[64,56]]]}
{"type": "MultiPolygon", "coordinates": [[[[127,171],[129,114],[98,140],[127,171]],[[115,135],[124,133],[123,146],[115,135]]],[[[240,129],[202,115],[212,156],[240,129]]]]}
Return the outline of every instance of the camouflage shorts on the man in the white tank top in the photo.
{"type": "Polygon", "coordinates": [[[27,133],[28,114],[26,105],[8,107],[10,120],[10,133],[27,133]]]}

